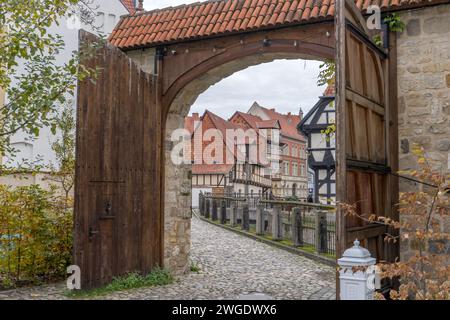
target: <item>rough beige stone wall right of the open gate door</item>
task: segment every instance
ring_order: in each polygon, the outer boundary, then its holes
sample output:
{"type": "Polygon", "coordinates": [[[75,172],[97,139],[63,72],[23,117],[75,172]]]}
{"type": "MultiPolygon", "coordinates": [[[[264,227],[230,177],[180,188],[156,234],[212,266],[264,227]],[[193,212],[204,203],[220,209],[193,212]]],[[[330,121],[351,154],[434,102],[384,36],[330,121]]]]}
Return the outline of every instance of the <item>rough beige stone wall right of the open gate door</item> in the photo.
{"type": "MultiPolygon", "coordinates": [[[[398,36],[398,97],[400,170],[416,167],[411,152],[421,144],[432,165],[450,168],[450,4],[400,14],[406,30],[398,36]]],[[[422,186],[400,179],[400,192],[422,186]]],[[[441,228],[450,232],[450,221],[441,228]]],[[[401,255],[411,254],[402,243],[401,255]]],[[[432,247],[430,251],[434,251],[432,247]]],[[[450,245],[444,250],[450,254],[450,245]]]]}

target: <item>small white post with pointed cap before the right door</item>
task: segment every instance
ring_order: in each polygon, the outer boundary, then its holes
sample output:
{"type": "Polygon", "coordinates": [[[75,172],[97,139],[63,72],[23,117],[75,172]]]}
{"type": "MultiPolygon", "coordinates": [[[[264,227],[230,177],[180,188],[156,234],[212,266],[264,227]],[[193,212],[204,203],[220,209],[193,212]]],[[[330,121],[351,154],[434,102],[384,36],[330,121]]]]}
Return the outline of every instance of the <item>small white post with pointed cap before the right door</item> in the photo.
{"type": "Polygon", "coordinates": [[[338,260],[341,300],[373,300],[375,263],[376,259],[359,245],[358,239],[353,247],[345,250],[338,260]]]}

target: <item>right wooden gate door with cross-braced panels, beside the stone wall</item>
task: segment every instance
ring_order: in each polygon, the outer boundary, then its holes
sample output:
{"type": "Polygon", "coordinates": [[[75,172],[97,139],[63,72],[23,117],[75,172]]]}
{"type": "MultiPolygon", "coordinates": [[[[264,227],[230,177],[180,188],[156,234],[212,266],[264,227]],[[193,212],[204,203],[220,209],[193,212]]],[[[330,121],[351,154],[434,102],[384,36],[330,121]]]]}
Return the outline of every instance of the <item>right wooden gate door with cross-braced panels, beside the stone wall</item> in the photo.
{"type": "MultiPolygon", "coordinates": [[[[377,47],[354,0],[337,1],[337,201],[356,204],[359,215],[398,218],[395,36],[377,47]]],[[[337,214],[337,256],[360,240],[378,261],[393,261],[394,233],[356,216],[337,214]]]]}

